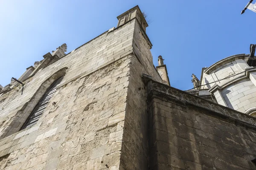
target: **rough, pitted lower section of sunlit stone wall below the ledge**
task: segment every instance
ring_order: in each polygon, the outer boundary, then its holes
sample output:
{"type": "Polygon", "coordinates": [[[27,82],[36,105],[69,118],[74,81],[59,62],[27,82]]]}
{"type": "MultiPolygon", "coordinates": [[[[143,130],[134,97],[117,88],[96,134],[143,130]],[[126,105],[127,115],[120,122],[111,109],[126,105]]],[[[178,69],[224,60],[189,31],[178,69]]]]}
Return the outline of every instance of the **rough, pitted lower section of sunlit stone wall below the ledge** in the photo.
{"type": "Polygon", "coordinates": [[[119,169],[129,58],[60,87],[36,126],[0,141],[0,169],[119,169]]]}

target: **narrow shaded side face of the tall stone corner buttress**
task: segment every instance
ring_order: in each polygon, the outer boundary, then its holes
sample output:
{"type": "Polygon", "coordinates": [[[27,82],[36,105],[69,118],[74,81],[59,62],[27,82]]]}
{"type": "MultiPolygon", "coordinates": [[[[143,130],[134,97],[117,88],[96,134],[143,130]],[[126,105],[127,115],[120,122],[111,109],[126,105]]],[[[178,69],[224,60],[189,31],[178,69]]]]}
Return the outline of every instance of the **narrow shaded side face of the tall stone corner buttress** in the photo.
{"type": "Polygon", "coordinates": [[[120,167],[125,170],[146,170],[148,169],[148,119],[142,74],[150,74],[159,82],[162,82],[162,79],[153,65],[151,45],[137,21],[133,40],[136,53],[131,58],[120,167]]]}

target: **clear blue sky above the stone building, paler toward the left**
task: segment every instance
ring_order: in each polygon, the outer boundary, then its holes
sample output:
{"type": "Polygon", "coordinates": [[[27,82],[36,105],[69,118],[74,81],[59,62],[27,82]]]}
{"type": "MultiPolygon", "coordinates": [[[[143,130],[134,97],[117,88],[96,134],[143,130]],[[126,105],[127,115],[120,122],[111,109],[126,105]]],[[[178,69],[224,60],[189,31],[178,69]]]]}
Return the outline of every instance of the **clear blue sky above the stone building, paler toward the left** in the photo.
{"type": "MultiPolygon", "coordinates": [[[[256,3],[256,0],[254,0],[256,3]]],[[[256,44],[256,13],[249,0],[0,0],[0,84],[19,78],[43,55],[67,44],[67,53],[117,25],[139,5],[153,22],[147,35],[154,65],[162,55],[171,86],[192,88],[191,75],[256,44]]]]}

